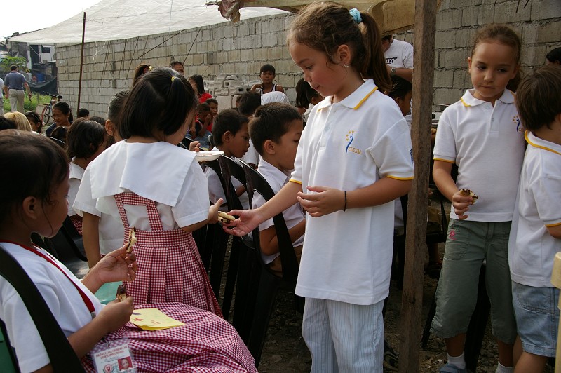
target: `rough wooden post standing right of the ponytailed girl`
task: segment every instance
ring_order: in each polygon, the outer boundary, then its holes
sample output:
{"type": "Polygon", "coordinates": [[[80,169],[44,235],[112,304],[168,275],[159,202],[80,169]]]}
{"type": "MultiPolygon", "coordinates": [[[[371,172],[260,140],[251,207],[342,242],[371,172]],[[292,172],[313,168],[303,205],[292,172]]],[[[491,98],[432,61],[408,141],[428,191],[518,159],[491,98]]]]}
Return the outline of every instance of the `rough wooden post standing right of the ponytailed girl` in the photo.
{"type": "Polygon", "coordinates": [[[399,372],[419,372],[426,210],[431,156],[436,1],[415,0],[411,136],[415,178],[407,208],[399,372]]]}

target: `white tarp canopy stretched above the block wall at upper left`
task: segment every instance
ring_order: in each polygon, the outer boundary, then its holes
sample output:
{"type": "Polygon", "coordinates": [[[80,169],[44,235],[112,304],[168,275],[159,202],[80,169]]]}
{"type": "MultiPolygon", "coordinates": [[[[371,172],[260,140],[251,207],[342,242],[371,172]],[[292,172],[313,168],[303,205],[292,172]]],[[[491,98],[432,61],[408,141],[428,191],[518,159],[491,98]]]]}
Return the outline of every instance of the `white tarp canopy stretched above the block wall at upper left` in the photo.
{"type": "MultiPolygon", "coordinates": [[[[241,19],[286,13],[273,8],[242,8],[241,19]]],[[[86,9],[85,41],[129,39],[227,22],[205,0],[102,0],[86,9]]],[[[58,25],[13,36],[27,43],[81,43],[83,13],[58,25]]]]}

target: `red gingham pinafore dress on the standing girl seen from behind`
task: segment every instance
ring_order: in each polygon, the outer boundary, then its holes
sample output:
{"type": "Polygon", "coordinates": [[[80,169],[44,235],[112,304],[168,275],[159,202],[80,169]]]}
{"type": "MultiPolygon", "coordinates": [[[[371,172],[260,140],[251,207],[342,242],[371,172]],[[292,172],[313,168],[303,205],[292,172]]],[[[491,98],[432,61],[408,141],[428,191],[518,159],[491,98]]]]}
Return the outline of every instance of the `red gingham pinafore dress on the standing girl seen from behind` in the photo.
{"type": "Polygon", "coordinates": [[[125,283],[135,304],[180,302],[222,316],[210,281],[191,233],[182,229],[164,230],[156,203],[132,192],[115,195],[125,226],[124,242],[130,226],[123,205],[145,206],[150,231],[136,230],[133,247],[138,269],[135,280],[125,283]]]}

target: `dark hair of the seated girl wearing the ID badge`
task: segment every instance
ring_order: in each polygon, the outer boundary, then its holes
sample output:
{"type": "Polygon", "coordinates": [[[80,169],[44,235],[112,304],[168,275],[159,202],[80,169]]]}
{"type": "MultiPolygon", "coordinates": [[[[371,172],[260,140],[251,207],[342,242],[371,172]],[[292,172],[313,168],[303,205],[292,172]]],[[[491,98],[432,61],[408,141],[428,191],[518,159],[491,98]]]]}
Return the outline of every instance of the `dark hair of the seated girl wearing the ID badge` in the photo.
{"type": "Polygon", "coordinates": [[[29,196],[52,203],[55,188],[68,178],[68,158],[53,140],[36,133],[0,132],[0,224],[18,213],[29,196]]]}

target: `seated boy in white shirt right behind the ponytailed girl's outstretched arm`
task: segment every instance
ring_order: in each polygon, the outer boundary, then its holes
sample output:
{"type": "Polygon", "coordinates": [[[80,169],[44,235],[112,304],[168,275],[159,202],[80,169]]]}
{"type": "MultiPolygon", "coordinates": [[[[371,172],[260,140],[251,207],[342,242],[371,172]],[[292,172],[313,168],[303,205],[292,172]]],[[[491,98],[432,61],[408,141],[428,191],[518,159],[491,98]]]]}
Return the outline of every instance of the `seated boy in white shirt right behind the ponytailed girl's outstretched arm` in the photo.
{"type": "MultiPolygon", "coordinates": [[[[264,104],[255,111],[255,117],[250,123],[250,137],[261,156],[257,170],[263,175],[275,194],[290,179],[302,130],[304,130],[302,116],[290,104],[273,102],[264,104]]],[[[259,208],[264,203],[264,198],[255,194],[252,208],[259,208]]],[[[295,203],[283,211],[283,217],[299,261],[302,256],[306,227],[304,211],[299,203],[295,203]]],[[[280,265],[273,219],[259,224],[259,242],[263,262],[277,276],[282,276],[283,270],[280,265]]]]}

